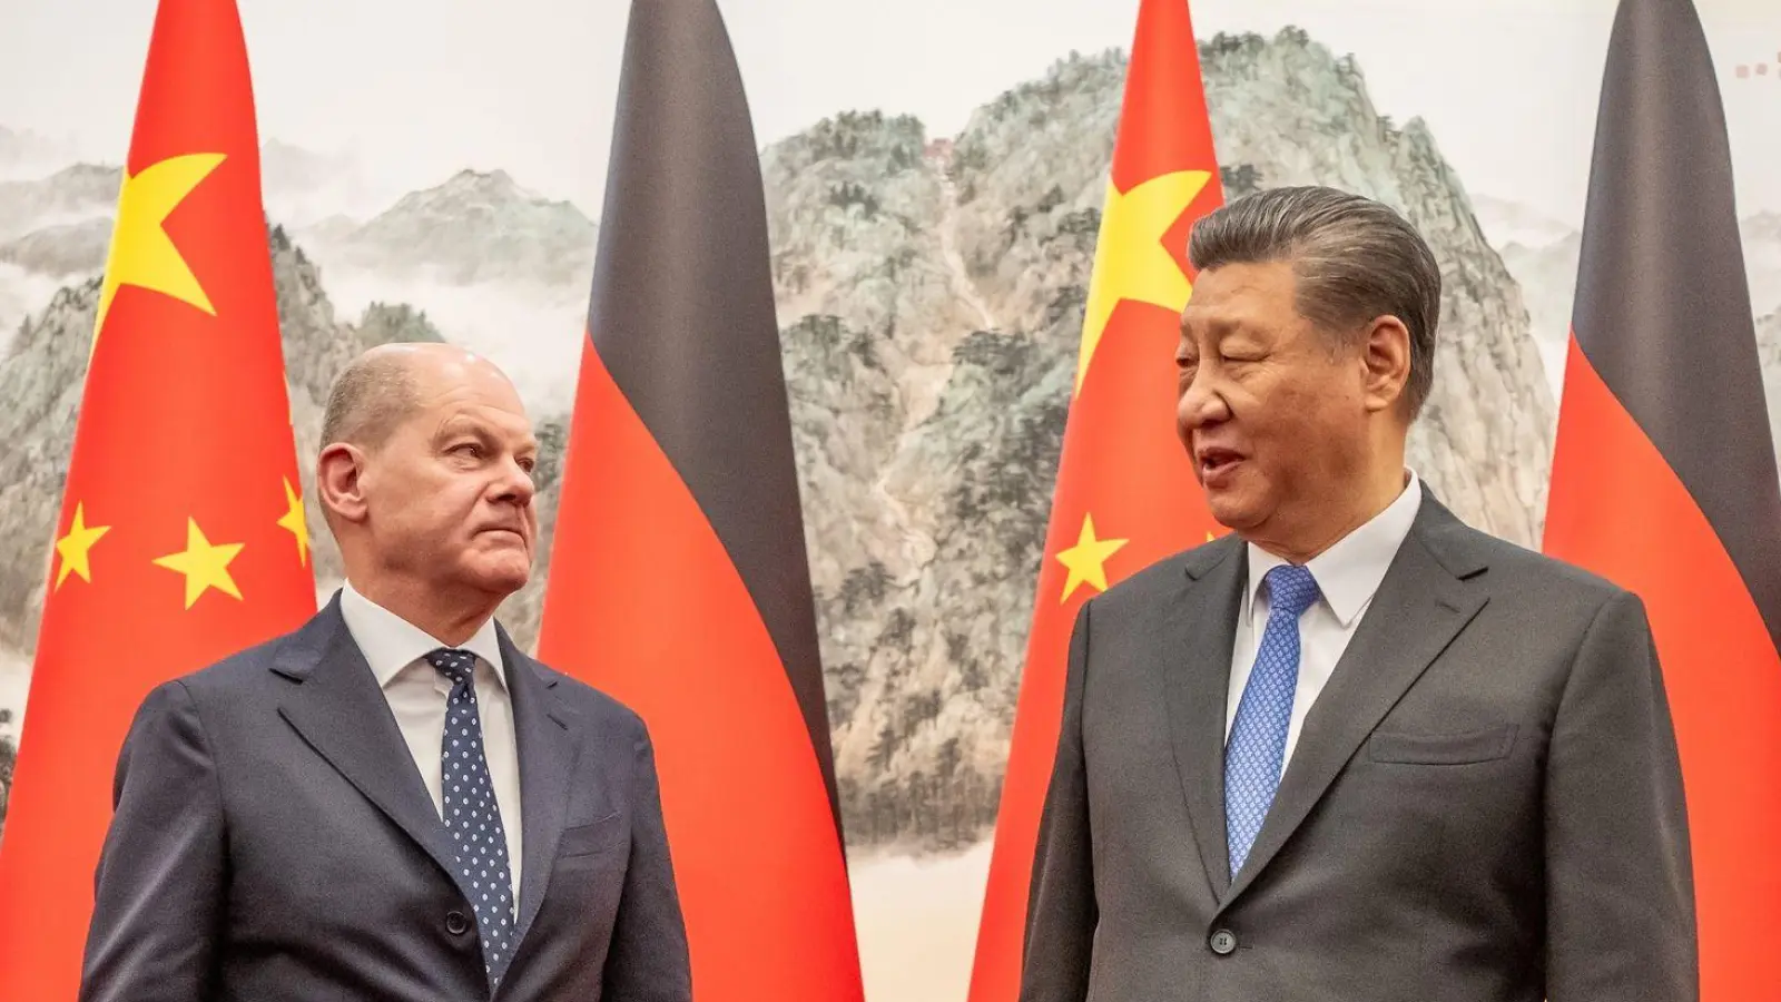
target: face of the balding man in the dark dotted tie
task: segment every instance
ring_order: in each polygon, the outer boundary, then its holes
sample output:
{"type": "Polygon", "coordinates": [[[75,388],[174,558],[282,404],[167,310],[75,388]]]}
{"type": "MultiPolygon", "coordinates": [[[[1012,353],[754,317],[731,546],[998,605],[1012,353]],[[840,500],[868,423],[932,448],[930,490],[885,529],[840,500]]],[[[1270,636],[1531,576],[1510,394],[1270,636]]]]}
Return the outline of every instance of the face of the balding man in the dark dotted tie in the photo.
{"type": "Polygon", "coordinates": [[[508,595],[538,542],[538,440],[513,385],[486,364],[426,358],[415,410],[360,474],[381,565],[436,590],[508,595]]]}

